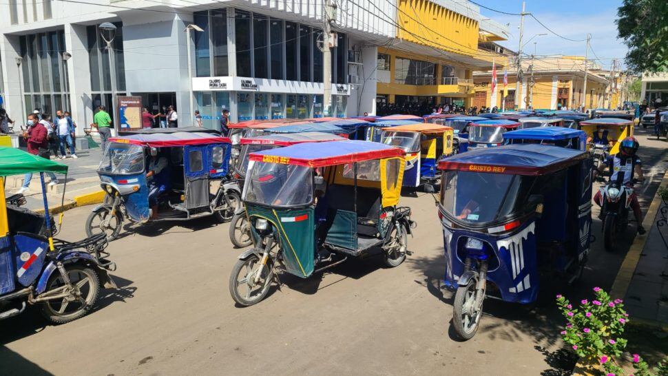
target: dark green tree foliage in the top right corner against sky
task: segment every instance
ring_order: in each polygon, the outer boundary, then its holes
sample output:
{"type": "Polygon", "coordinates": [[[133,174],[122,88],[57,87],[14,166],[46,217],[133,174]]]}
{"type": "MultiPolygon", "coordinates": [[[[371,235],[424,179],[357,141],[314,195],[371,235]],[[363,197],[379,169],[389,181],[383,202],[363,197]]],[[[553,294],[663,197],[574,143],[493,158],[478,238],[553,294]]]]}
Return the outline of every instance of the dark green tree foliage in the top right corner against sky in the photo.
{"type": "Polygon", "coordinates": [[[668,71],[668,1],[623,0],[617,16],[618,36],[629,47],[627,66],[635,72],[668,71]]]}

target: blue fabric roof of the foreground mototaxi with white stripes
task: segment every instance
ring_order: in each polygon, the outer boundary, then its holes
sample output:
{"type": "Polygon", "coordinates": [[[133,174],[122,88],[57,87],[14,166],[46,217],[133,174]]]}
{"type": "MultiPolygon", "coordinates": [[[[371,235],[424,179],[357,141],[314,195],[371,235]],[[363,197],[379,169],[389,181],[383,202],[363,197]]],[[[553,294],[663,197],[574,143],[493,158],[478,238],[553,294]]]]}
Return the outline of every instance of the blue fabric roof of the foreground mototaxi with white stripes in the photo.
{"type": "MultiPolygon", "coordinates": [[[[587,158],[589,152],[565,147],[519,144],[475,149],[442,159],[440,165],[491,165],[499,167],[519,167],[520,169],[546,169],[547,167],[569,164],[569,160],[587,158]]],[[[575,163],[575,161],[573,161],[575,163]]]]}

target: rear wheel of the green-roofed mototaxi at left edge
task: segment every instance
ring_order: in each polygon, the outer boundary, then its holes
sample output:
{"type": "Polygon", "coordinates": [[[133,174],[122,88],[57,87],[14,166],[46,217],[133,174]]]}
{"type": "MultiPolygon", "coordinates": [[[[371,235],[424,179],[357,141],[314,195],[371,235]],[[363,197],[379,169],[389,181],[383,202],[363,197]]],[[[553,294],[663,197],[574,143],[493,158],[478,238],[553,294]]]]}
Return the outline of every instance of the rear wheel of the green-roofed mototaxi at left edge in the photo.
{"type": "MultiPolygon", "coordinates": [[[[54,324],[65,324],[79,319],[89,313],[97,302],[100,292],[100,279],[94,269],[81,264],[65,265],[65,273],[70,276],[72,284],[82,293],[83,302],[65,297],[62,300],[47,300],[43,302],[41,313],[54,324]],[[74,309],[72,309],[72,304],[74,309]]],[[[47,282],[46,291],[63,286],[61,273],[56,269],[47,282]]]]}

